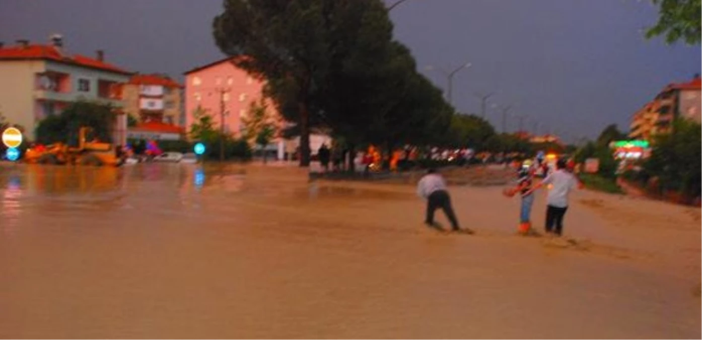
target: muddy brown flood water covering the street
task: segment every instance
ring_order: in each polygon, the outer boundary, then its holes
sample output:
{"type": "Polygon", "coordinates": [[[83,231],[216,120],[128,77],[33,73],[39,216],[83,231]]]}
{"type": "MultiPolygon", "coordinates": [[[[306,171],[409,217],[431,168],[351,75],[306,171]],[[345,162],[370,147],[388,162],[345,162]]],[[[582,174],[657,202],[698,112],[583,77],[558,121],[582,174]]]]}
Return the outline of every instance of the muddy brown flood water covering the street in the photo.
{"type": "Polygon", "coordinates": [[[702,339],[698,230],[569,211],[612,256],[513,236],[501,188],[452,188],[468,236],[411,186],[294,167],[0,171],[0,339],[702,339]]]}

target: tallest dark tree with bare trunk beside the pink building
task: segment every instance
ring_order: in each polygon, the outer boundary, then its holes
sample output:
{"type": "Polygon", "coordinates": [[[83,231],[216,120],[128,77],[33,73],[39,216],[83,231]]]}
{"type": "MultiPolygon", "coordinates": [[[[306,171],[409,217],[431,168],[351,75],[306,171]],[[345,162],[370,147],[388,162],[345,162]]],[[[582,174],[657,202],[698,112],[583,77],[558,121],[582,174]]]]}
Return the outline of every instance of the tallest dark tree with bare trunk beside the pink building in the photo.
{"type": "Polygon", "coordinates": [[[213,31],[220,50],[266,79],[266,93],[298,124],[300,166],[308,166],[310,127],[333,124],[325,115],[338,112],[322,98],[340,85],[329,73],[372,67],[392,24],[379,0],[225,0],[213,31]]]}

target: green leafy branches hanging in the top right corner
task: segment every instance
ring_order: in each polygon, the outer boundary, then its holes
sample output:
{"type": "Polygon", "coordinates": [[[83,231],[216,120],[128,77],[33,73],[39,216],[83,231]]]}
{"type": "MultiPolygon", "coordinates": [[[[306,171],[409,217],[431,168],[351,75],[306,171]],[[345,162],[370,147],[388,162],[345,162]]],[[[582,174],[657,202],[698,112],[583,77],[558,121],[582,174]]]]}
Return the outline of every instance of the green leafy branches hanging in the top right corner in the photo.
{"type": "Polygon", "coordinates": [[[651,0],[658,7],[658,22],[646,36],[664,36],[668,44],[702,43],[702,0],[651,0]]]}

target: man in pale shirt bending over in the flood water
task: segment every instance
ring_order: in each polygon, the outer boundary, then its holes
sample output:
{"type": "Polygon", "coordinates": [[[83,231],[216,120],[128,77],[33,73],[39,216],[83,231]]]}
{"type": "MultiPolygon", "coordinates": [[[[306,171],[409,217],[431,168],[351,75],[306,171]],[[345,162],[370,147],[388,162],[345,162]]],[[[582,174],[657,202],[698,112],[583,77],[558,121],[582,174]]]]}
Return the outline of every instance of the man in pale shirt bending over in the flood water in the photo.
{"type": "Polygon", "coordinates": [[[451,229],[453,231],[463,231],[464,233],[472,234],[472,230],[458,227],[456,214],[453,214],[453,207],[451,207],[451,196],[446,191],[446,181],[441,175],[437,174],[435,169],[429,169],[427,174],[419,180],[417,195],[427,200],[427,215],[424,221],[426,225],[431,228],[437,228],[437,224],[434,223],[434,211],[441,208],[444,210],[446,217],[449,218],[449,221],[451,221],[451,229]]]}

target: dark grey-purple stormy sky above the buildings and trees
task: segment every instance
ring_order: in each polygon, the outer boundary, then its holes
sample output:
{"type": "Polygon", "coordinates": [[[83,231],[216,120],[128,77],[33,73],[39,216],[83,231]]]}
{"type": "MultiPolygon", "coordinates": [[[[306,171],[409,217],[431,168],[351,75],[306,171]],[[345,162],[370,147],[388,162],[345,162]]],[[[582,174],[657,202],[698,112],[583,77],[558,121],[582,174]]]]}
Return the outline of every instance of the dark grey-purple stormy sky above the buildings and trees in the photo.
{"type": "MultiPolygon", "coordinates": [[[[388,2],[390,2],[388,0],[388,2]]],[[[211,37],[221,0],[0,0],[0,41],[47,41],[63,34],[72,53],[106,58],[127,70],[174,77],[222,58],[211,37]]],[[[654,22],[649,1],[409,0],[392,11],[396,36],[439,86],[446,77],[428,65],[472,67],[456,75],[453,102],[479,112],[476,91],[515,103],[525,127],[593,136],[630,115],[670,81],[702,72],[702,47],[646,41],[654,22]]],[[[489,109],[500,129],[500,114],[489,109]]],[[[509,120],[516,129],[517,119],[509,120]]]]}

